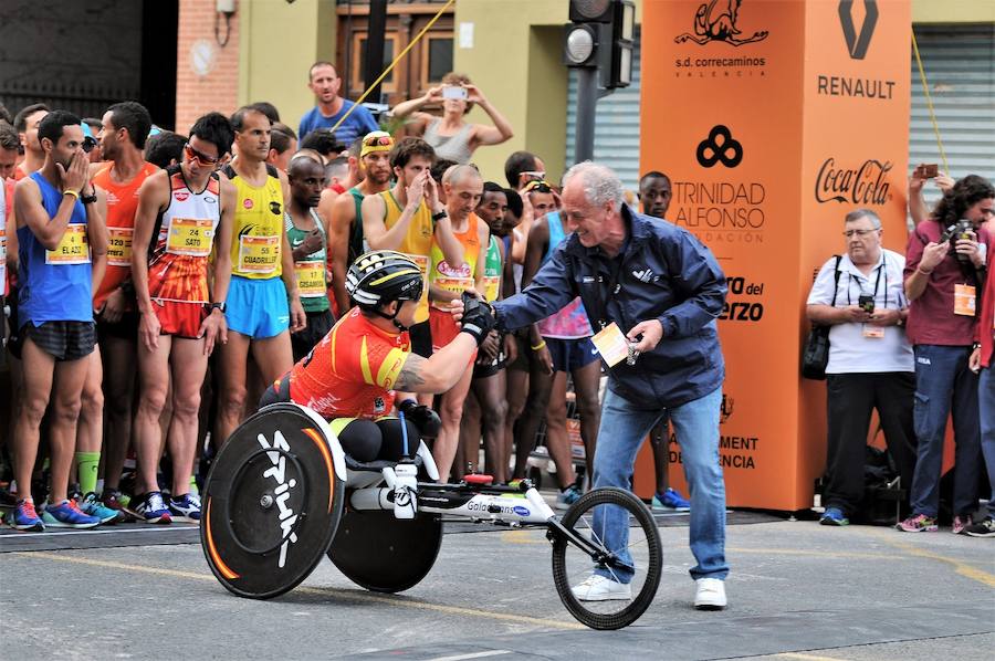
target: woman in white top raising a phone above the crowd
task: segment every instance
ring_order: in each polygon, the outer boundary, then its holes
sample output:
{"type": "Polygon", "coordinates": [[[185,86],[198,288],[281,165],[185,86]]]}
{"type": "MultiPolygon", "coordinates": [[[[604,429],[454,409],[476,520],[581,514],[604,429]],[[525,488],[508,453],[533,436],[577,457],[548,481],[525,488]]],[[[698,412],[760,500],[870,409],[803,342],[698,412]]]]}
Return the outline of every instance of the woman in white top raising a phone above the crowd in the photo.
{"type": "Polygon", "coordinates": [[[461,73],[448,73],[442,84],[432,87],[425,96],[394,106],[394,116],[409,117],[408,135],[421,137],[436,149],[439,158],[469,164],[473,151],[481,145],[500,145],[513,135],[511,124],[491,105],[483,93],[461,73]],[[441,103],[442,116],[421,112],[426,104],[441,103]],[[468,124],[463,117],[478,104],[494,126],[468,124]]]}

